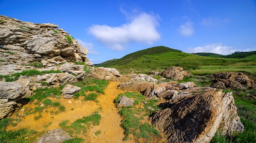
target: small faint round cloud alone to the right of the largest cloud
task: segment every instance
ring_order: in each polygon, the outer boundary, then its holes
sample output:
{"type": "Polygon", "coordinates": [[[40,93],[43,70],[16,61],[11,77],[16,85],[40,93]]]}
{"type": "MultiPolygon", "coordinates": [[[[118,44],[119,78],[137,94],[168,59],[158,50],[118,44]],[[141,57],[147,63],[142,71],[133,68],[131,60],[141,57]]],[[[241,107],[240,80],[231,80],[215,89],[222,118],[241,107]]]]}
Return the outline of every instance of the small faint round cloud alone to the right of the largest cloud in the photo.
{"type": "Polygon", "coordinates": [[[193,22],[188,19],[184,24],[180,25],[180,28],[178,30],[180,34],[185,37],[191,36],[194,32],[193,22]]]}

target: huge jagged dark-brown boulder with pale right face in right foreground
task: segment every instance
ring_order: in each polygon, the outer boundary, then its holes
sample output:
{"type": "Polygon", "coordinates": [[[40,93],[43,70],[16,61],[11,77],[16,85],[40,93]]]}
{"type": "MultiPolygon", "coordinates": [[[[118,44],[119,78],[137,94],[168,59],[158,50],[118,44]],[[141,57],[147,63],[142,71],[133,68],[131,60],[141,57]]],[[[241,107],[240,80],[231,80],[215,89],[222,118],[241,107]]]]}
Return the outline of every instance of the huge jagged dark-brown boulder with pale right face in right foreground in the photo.
{"type": "Polygon", "coordinates": [[[222,135],[243,132],[231,93],[213,89],[177,95],[178,102],[152,116],[152,124],[164,131],[168,143],[209,143],[218,129],[222,135]]]}

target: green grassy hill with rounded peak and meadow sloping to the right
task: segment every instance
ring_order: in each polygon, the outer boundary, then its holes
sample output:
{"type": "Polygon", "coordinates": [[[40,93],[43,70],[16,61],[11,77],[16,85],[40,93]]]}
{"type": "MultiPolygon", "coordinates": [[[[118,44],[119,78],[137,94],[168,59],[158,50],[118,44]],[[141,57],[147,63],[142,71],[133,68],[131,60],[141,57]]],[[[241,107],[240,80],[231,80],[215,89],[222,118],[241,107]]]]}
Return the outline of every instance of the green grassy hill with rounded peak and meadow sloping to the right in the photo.
{"type": "Polygon", "coordinates": [[[195,75],[240,71],[255,75],[256,54],[253,53],[247,53],[244,58],[210,57],[158,46],[128,54],[101,66],[116,68],[123,73],[131,71],[147,73],[152,70],[162,71],[167,67],[179,66],[195,75]]]}

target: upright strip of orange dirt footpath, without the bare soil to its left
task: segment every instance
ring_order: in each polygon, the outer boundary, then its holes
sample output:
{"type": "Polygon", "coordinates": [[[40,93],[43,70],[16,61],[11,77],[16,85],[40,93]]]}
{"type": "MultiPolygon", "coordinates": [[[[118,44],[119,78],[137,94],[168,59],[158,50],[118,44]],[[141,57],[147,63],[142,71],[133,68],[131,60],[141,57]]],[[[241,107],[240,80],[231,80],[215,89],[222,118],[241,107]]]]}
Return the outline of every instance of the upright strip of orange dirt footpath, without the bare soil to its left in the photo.
{"type": "MultiPolygon", "coordinates": [[[[124,129],[120,127],[121,117],[118,114],[117,108],[115,108],[114,100],[120,93],[124,91],[117,90],[117,82],[110,82],[108,87],[104,90],[105,95],[100,95],[99,105],[102,110],[101,123],[99,126],[95,126],[94,129],[88,132],[85,137],[86,142],[90,143],[121,143],[124,139],[124,129]],[[94,133],[101,131],[101,134],[94,136],[94,133]]],[[[130,143],[130,142],[129,142],[130,143]]]]}

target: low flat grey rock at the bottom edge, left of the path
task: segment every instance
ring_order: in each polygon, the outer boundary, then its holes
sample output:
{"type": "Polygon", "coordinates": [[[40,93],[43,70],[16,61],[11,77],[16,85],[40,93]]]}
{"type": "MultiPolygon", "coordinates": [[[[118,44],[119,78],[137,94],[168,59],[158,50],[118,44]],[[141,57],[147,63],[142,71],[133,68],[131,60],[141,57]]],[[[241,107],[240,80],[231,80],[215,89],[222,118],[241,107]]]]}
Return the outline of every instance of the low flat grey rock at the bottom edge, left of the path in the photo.
{"type": "Polygon", "coordinates": [[[61,143],[68,139],[72,139],[72,137],[67,132],[59,128],[45,133],[43,137],[38,139],[35,143],[61,143]]]}

